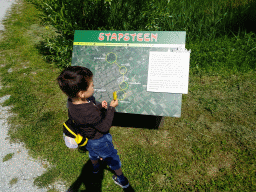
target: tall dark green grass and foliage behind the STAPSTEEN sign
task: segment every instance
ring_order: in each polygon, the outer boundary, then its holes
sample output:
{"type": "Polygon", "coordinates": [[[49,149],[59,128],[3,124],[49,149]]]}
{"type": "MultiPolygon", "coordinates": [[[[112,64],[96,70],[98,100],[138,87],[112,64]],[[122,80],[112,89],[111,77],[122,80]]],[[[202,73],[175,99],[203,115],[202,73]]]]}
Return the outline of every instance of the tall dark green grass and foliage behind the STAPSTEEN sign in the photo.
{"type": "MultiPolygon", "coordinates": [[[[60,34],[46,38],[46,57],[70,65],[75,30],[186,31],[186,44],[253,31],[253,0],[26,0],[60,34]]],[[[255,32],[255,31],[254,31],[255,32]]],[[[193,51],[193,50],[192,50],[193,51]]],[[[250,67],[250,69],[252,69],[250,67]]]]}

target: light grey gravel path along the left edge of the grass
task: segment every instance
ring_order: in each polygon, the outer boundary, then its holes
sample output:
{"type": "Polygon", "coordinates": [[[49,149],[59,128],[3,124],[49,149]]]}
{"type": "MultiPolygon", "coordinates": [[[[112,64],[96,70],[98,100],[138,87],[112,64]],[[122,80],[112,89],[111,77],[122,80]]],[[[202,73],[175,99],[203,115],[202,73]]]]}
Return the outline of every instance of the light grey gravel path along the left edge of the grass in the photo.
{"type": "MultiPolygon", "coordinates": [[[[1,21],[8,16],[7,11],[11,10],[13,4],[19,2],[19,0],[0,0],[0,30],[4,30],[1,21]]],[[[11,73],[11,70],[9,72],[11,73]]],[[[0,89],[2,89],[1,85],[0,89]]],[[[66,191],[68,187],[61,182],[43,189],[34,186],[34,179],[46,171],[43,165],[49,166],[49,163],[30,157],[23,143],[10,143],[7,118],[12,115],[11,106],[2,106],[2,103],[9,98],[10,95],[0,98],[0,192],[46,192],[53,187],[61,192],[66,191]]]]}

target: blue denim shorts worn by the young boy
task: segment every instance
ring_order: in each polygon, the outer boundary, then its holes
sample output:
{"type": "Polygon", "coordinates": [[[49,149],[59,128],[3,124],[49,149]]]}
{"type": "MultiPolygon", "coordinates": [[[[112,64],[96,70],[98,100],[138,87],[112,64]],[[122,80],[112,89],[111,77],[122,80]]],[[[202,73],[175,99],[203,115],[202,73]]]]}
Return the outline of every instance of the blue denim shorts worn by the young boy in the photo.
{"type": "Polygon", "coordinates": [[[117,155],[117,150],[114,148],[110,133],[104,134],[99,139],[89,139],[86,149],[89,151],[89,158],[91,160],[97,160],[99,157],[102,157],[110,169],[117,170],[121,168],[122,164],[117,155]]]}

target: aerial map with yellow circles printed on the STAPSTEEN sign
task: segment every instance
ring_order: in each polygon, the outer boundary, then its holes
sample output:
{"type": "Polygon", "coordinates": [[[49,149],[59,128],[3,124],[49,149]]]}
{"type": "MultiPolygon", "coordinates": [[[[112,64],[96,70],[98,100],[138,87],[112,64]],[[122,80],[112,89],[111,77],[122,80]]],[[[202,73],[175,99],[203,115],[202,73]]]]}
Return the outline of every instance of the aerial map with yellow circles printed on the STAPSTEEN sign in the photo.
{"type": "Polygon", "coordinates": [[[180,117],[182,94],[147,92],[150,51],[168,48],[74,45],[72,66],[93,72],[97,101],[110,104],[117,91],[117,112],[180,117]]]}

